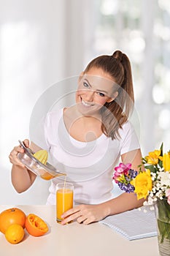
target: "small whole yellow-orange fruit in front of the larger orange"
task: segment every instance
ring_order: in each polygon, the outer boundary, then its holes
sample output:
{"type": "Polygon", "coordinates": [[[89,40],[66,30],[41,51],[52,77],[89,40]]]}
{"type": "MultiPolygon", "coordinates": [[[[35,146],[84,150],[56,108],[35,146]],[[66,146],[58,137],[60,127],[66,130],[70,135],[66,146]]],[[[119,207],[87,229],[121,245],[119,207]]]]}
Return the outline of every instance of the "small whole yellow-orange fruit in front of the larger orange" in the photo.
{"type": "Polygon", "coordinates": [[[25,233],[21,225],[12,224],[9,225],[9,227],[5,231],[5,238],[11,244],[18,244],[20,241],[23,240],[24,234],[25,233]]]}

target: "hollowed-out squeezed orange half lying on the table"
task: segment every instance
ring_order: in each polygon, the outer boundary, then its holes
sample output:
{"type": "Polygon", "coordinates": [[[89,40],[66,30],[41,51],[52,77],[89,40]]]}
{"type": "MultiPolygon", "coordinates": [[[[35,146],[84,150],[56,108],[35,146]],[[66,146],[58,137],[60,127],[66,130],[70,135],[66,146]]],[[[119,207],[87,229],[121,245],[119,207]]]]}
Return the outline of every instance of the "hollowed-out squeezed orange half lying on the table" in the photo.
{"type": "Polygon", "coordinates": [[[43,236],[48,231],[45,221],[35,214],[28,214],[25,227],[31,236],[43,236]]]}

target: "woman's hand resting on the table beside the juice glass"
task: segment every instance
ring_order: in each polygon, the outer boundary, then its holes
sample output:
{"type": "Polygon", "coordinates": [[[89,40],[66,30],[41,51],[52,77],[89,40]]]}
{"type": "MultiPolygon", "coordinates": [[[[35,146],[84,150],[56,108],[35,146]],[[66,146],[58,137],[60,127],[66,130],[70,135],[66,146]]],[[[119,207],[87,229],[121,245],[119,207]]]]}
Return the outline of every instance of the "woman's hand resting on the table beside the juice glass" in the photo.
{"type": "Polygon", "coordinates": [[[61,225],[77,219],[78,223],[90,224],[91,222],[98,222],[107,217],[106,207],[103,204],[99,205],[80,205],[66,211],[62,215],[61,225]]]}

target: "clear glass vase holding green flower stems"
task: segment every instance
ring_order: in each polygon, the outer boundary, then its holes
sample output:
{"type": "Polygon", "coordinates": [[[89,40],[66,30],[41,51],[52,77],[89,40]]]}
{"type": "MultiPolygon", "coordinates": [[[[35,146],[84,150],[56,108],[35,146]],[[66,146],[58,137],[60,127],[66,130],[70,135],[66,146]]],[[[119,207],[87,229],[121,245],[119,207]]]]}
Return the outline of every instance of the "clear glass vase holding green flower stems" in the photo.
{"type": "Polygon", "coordinates": [[[161,256],[170,256],[170,205],[166,199],[155,203],[158,229],[158,249],[161,256]]]}

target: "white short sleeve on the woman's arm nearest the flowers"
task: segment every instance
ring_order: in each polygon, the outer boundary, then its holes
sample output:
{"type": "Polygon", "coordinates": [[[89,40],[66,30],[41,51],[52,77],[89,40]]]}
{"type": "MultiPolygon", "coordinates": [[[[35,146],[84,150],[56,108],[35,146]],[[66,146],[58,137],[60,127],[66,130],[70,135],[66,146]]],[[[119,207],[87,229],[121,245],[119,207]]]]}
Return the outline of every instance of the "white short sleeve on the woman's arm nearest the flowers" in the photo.
{"type": "Polygon", "coordinates": [[[130,121],[123,124],[120,133],[120,155],[140,148],[139,138],[136,135],[133,125],[130,121]]]}

